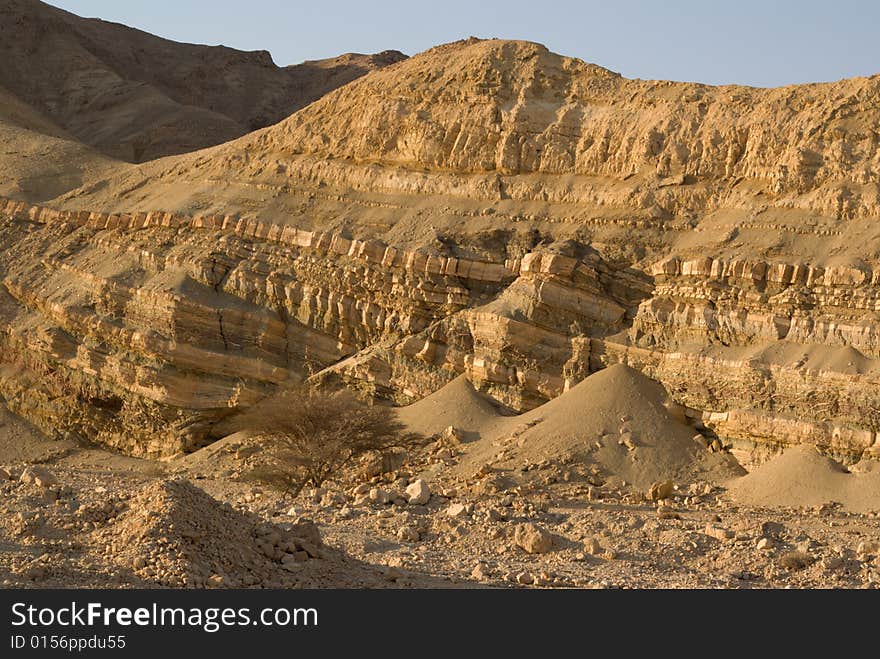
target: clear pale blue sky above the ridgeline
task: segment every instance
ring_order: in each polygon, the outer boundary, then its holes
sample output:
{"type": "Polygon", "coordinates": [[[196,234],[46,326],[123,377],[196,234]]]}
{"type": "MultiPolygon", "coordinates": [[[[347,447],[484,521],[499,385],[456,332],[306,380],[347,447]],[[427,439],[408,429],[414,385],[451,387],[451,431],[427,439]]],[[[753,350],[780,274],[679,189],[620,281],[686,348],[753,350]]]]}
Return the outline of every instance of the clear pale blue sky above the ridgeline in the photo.
{"type": "Polygon", "coordinates": [[[277,64],[409,55],[470,35],[529,39],[629,78],[757,86],[880,73],[876,0],[52,0],[176,41],[277,64]]]}

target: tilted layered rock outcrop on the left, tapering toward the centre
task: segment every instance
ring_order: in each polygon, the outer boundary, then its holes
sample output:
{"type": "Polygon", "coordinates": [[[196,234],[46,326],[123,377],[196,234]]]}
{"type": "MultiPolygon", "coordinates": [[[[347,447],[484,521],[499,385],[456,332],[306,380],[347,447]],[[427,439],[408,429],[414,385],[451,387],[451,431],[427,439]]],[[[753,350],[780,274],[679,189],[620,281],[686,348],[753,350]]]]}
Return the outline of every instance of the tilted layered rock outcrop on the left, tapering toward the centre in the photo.
{"type": "Polygon", "coordinates": [[[419,332],[518,267],[221,218],[0,206],[0,390],[47,431],[132,453],[195,448],[279,383],[419,332]]]}

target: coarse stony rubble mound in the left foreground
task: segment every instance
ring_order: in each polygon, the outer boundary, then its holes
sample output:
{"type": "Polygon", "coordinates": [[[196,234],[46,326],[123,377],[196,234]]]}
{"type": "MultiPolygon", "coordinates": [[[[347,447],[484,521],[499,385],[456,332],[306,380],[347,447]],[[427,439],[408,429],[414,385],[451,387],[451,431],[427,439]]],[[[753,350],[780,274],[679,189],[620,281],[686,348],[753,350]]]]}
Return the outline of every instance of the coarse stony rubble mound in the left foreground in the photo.
{"type": "Polygon", "coordinates": [[[311,523],[265,523],[184,480],[147,486],[106,532],[118,561],[174,587],[277,585],[287,566],[323,552],[311,523]]]}

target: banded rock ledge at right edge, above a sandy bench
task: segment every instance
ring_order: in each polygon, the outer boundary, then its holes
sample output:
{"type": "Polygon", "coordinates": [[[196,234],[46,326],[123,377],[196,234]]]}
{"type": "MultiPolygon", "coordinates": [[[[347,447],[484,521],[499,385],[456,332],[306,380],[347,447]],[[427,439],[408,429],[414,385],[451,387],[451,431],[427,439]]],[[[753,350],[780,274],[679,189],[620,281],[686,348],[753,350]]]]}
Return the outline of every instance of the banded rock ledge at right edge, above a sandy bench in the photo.
{"type": "Polygon", "coordinates": [[[638,345],[792,341],[880,357],[880,272],[712,258],[670,259],[652,272],[657,287],[633,327],[638,345]]]}

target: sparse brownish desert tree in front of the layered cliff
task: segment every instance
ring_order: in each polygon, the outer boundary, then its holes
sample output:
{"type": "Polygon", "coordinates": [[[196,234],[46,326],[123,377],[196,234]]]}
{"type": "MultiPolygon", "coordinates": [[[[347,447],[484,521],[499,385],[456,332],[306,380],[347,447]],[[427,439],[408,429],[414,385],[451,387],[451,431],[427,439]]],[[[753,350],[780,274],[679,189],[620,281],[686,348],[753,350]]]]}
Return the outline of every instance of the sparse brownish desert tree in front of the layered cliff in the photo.
{"type": "Polygon", "coordinates": [[[409,446],[393,408],[367,405],[347,390],[300,385],[254,406],[239,422],[263,440],[263,466],[255,477],[294,495],[321,484],[367,453],[409,446]]]}

